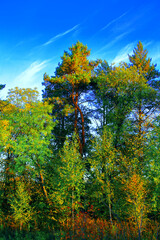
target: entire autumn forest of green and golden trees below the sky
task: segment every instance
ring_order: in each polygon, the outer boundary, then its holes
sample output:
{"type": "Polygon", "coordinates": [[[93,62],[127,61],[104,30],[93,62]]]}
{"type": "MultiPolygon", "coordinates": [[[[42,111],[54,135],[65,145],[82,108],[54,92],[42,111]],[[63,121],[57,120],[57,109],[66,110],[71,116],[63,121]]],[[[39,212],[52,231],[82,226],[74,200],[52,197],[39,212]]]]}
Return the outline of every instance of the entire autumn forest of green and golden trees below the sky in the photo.
{"type": "Polygon", "coordinates": [[[160,72],[90,52],[0,100],[0,240],[160,239],[160,72]]]}

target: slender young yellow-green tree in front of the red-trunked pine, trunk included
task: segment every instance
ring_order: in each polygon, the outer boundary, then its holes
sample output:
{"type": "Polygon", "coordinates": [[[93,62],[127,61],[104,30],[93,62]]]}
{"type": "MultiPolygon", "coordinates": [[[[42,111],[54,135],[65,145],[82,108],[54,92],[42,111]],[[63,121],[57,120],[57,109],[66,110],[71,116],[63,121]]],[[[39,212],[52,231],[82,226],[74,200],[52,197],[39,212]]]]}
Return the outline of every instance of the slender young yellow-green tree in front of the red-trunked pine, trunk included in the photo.
{"type": "MultiPolygon", "coordinates": [[[[79,144],[76,134],[72,141],[65,141],[60,152],[61,166],[59,168],[59,184],[56,196],[64,212],[71,214],[74,227],[75,211],[78,211],[81,196],[84,191],[84,162],[79,153],[79,144]]],[[[53,193],[55,198],[55,193],[53,193]]]]}

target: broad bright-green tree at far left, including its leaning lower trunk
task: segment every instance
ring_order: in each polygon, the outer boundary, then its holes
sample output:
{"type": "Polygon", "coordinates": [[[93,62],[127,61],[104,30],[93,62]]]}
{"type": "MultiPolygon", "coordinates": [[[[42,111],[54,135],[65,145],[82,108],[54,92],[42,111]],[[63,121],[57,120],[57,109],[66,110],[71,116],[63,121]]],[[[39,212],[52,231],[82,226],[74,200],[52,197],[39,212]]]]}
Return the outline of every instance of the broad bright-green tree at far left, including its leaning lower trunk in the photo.
{"type": "Polygon", "coordinates": [[[1,151],[5,156],[2,160],[2,177],[5,179],[3,202],[8,209],[8,200],[14,195],[17,176],[37,179],[43,201],[51,204],[44,176],[47,161],[52,156],[49,145],[55,123],[50,116],[51,106],[38,101],[36,97],[33,101],[34,93],[37,95],[37,91],[28,89],[24,94],[22,89],[16,88],[14,98],[12,90],[8,97],[11,103],[1,114],[1,122],[6,126],[5,138],[0,139],[1,151]],[[30,94],[32,100],[28,101],[30,94]]]}

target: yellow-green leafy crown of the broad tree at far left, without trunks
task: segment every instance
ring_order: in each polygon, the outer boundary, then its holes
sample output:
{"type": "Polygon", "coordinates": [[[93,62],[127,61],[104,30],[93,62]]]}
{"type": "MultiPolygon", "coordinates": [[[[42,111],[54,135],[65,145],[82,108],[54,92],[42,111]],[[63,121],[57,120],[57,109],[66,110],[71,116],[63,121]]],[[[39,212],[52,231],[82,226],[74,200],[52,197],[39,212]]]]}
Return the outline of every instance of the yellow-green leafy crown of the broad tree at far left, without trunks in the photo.
{"type": "Polygon", "coordinates": [[[7,105],[1,115],[4,125],[1,145],[4,151],[10,150],[14,154],[17,171],[29,163],[30,166],[36,166],[35,159],[38,156],[40,162],[44,163],[45,156],[50,151],[48,148],[50,134],[55,125],[49,115],[52,109],[47,103],[39,102],[34,93],[35,91],[31,89],[16,88],[15,92],[12,90],[12,99],[9,100],[15,105],[7,105]],[[21,93],[24,101],[19,97],[21,93]],[[34,96],[34,100],[32,97],[30,99],[30,96],[34,96]]]}

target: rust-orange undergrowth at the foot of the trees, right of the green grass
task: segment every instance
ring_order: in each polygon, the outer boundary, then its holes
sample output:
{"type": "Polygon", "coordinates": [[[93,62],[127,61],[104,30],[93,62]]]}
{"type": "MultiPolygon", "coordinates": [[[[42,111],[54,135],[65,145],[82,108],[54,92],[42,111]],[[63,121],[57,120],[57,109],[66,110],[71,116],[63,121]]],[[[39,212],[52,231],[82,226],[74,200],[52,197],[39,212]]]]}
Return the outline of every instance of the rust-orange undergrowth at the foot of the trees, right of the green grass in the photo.
{"type": "MultiPolygon", "coordinates": [[[[110,222],[102,218],[92,218],[88,213],[79,213],[74,221],[74,233],[71,230],[72,219],[67,218],[67,221],[62,223],[63,238],[71,239],[74,234],[74,239],[88,239],[88,240],[101,240],[101,239],[137,239],[138,226],[134,224],[133,220],[127,222],[121,221],[120,223],[114,221],[111,226],[110,222]]],[[[142,232],[143,239],[152,239],[153,232],[158,232],[158,223],[147,223],[142,232]]],[[[156,238],[155,238],[156,239],[156,238]]]]}

